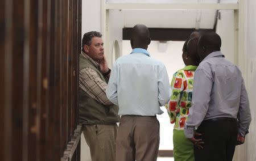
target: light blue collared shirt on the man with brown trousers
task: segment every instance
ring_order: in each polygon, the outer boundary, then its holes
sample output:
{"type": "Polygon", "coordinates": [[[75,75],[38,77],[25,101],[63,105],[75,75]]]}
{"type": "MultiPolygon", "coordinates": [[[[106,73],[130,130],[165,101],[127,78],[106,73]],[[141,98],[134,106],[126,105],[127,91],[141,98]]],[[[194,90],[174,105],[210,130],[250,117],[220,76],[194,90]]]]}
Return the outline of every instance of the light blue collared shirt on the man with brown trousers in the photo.
{"type": "Polygon", "coordinates": [[[160,106],[170,99],[166,67],[147,50],[135,48],[115,61],[106,95],[119,105],[118,115],[160,115],[160,106]]]}

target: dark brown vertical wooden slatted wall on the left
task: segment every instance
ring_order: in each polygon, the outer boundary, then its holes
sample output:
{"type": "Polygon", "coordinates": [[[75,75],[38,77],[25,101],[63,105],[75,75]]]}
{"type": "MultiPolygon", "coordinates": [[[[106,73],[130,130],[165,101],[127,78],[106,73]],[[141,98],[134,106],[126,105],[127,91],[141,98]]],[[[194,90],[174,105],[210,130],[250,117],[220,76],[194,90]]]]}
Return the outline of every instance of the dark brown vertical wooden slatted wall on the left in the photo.
{"type": "Polygon", "coordinates": [[[0,34],[1,160],[80,160],[81,0],[0,1],[0,34]]]}

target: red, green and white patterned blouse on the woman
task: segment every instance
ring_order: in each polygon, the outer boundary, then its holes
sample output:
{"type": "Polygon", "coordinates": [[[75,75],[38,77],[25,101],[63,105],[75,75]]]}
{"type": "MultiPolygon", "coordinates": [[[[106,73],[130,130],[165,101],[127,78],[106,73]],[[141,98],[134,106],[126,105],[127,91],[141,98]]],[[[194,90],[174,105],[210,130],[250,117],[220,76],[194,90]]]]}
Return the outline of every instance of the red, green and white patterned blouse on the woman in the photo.
{"type": "Polygon", "coordinates": [[[191,107],[193,78],[197,66],[185,66],[178,70],[171,82],[171,99],[166,104],[166,109],[170,116],[171,124],[174,129],[183,130],[185,121],[188,117],[189,108],[191,107]]]}

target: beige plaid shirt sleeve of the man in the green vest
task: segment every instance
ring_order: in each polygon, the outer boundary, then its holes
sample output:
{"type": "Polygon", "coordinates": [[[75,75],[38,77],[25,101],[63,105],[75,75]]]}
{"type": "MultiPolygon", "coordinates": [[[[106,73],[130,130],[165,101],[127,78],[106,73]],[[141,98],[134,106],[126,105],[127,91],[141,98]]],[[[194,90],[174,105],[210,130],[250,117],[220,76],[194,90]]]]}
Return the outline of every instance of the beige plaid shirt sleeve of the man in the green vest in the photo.
{"type": "Polygon", "coordinates": [[[100,75],[90,67],[79,71],[79,87],[99,103],[112,104],[106,96],[107,83],[102,81],[100,75]]]}

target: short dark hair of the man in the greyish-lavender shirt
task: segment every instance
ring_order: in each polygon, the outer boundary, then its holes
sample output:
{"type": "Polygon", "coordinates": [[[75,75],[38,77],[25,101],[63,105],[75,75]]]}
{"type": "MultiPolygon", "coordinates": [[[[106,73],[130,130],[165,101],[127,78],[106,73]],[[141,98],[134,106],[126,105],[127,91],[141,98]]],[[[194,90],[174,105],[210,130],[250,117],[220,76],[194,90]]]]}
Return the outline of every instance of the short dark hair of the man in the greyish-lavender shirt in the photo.
{"type": "Polygon", "coordinates": [[[200,37],[198,45],[209,50],[220,50],[221,38],[217,33],[214,32],[203,33],[200,37]]]}

